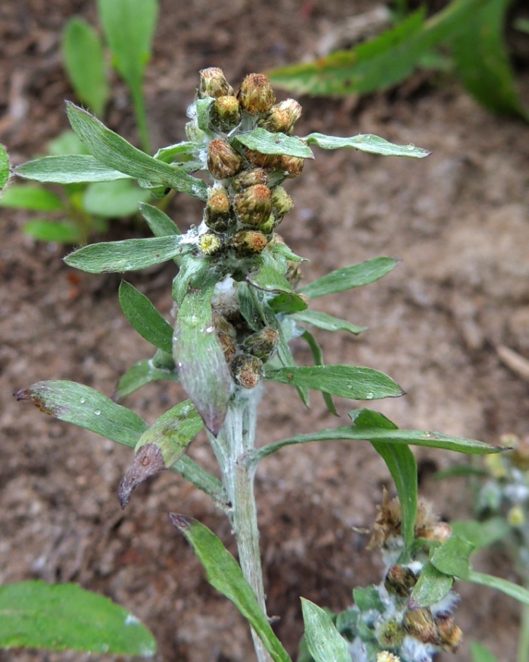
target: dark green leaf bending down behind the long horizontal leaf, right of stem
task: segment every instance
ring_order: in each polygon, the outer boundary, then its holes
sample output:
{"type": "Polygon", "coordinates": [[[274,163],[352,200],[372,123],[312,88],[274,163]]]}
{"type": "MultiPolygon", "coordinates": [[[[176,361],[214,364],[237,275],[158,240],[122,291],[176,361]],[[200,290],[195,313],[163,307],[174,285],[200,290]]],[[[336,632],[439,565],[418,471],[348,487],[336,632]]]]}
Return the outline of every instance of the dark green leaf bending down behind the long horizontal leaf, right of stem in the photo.
{"type": "MultiPolygon", "coordinates": [[[[397,425],[378,412],[360,409],[349,416],[356,428],[381,428],[398,430],[397,425]]],[[[410,552],[415,541],[415,519],[417,517],[417,462],[407,445],[397,445],[384,441],[371,441],[371,445],[386,463],[395,482],[402,509],[402,538],[404,551],[410,552]]]]}

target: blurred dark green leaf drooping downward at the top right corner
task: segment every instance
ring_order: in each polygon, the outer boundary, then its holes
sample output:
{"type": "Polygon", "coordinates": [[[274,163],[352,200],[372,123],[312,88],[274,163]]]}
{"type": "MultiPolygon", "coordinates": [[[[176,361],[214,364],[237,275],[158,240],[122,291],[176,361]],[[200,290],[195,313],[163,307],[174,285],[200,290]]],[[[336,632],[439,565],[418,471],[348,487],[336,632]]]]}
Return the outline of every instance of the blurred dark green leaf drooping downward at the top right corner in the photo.
{"type": "Polygon", "coordinates": [[[457,72],[466,90],[488,110],[529,121],[516,89],[504,37],[511,0],[489,0],[464,32],[449,40],[457,72]]]}

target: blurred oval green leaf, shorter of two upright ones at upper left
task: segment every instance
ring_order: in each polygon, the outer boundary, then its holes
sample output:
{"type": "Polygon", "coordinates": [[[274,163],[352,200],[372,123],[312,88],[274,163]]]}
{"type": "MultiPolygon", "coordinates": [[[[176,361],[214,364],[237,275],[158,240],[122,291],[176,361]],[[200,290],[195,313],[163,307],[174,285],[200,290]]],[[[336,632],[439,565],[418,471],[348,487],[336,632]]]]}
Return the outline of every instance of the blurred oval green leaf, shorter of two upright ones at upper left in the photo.
{"type": "Polygon", "coordinates": [[[63,62],[76,95],[101,117],[110,97],[103,45],[98,34],[80,17],[63,31],[63,62]]]}

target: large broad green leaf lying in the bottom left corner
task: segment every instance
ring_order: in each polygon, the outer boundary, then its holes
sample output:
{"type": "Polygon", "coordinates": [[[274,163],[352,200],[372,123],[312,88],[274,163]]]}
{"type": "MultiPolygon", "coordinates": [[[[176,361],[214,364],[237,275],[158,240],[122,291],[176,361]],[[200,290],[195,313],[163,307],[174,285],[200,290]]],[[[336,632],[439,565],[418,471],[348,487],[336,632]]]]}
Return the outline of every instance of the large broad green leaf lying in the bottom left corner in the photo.
{"type": "Polygon", "coordinates": [[[76,584],[25,581],[0,587],[0,648],[83,650],[152,657],[145,625],[110,599],[76,584]]]}

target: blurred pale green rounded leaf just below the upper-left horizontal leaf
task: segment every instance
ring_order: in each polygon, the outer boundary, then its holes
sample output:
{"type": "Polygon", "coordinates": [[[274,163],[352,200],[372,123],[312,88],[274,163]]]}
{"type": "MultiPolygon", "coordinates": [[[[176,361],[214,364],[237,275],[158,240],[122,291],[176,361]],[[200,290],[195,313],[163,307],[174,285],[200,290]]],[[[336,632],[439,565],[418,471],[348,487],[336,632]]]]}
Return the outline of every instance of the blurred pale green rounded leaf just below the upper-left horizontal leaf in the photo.
{"type": "Polygon", "coordinates": [[[151,197],[148,190],[138,188],[132,179],[100,181],[87,186],[83,208],[89,214],[105,219],[121,219],[138,213],[138,204],[151,197]]]}

